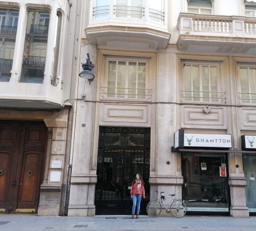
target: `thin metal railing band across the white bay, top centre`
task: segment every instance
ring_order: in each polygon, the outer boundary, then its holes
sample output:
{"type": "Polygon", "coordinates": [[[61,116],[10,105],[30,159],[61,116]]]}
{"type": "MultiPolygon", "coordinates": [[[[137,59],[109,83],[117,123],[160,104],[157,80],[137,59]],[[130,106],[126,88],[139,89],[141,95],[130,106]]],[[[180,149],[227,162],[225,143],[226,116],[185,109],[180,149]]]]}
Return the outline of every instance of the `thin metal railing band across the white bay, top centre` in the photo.
{"type": "Polygon", "coordinates": [[[107,5],[93,8],[92,16],[94,19],[103,18],[133,18],[150,20],[164,24],[165,14],[163,11],[154,10],[137,6],[107,5]]]}

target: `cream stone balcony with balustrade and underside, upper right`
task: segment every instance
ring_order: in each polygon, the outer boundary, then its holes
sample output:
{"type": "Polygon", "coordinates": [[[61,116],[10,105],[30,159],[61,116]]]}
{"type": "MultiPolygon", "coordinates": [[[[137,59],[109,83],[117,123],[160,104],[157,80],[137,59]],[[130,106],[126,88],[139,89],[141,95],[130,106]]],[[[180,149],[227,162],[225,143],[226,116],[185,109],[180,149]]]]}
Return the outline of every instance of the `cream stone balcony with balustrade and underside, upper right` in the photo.
{"type": "Polygon", "coordinates": [[[256,52],[256,18],[181,13],[177,47],[186,52],[256,52]]]}

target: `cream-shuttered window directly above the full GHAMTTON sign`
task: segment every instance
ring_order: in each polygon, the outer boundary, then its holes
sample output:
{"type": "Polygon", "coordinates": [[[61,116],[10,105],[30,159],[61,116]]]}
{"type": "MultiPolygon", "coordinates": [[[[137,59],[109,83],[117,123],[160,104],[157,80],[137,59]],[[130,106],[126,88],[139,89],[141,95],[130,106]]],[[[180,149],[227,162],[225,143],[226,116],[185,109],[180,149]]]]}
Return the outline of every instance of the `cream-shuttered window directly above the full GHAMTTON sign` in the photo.
{"type": "Polygon", "coordinates": [[[184,100],[218,102],[218,73],[218,64],[184,64],[184,100]]]}

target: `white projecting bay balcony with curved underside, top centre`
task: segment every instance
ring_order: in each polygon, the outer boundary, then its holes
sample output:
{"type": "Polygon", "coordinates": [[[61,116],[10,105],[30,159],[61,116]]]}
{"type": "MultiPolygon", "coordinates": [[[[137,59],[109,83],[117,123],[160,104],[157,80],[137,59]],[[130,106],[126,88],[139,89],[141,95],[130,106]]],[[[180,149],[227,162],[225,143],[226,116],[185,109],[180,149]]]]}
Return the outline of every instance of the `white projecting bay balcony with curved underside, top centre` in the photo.
{"type": "Polygon", "coordinates": [[[170,39],[163,11],[114,4],[91,8],[86,36],[92,44],[133,49],[165,48],[170,39]]]}

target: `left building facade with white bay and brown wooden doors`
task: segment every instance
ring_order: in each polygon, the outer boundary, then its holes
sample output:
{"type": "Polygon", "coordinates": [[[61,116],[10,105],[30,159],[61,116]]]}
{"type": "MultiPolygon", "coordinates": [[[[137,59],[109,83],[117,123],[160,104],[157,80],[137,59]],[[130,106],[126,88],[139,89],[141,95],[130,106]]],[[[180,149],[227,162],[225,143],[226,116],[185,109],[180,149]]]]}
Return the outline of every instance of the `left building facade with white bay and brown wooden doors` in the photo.
{"type": "Polygon", "coordinates": [[[65,214],[74,12],[65,0],[0,1],[1,213],[65,214]]]}

